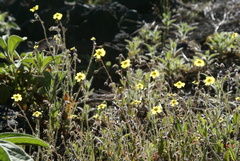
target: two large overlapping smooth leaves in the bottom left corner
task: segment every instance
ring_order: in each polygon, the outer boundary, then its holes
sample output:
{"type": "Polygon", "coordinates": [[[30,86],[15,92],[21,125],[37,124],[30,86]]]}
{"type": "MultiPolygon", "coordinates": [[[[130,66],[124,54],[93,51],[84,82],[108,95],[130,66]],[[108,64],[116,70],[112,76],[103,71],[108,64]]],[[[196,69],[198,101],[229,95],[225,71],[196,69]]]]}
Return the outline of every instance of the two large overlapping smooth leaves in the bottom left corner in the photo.
{"type": "Polygon", "coordinates": [[[49,145],[32,135],[21,133],[0,133],[0,158],[2,161],[32,161],[33,159],[17,145],[37,145],[48,147],[49,145]],[[16,144],[16,145],[15,145],[16,144]]]}

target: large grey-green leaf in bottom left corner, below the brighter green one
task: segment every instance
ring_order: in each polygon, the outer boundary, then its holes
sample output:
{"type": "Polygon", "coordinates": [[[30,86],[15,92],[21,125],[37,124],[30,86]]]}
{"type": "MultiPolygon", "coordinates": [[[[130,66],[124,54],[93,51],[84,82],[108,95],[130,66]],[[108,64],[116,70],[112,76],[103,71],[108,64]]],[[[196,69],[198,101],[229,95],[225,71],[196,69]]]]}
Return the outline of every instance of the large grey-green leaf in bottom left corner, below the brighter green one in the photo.
{"type": "Polygon", "coordinates": [[[1,161],[33,161],[19,146],[0,139],[1,161]]]}

